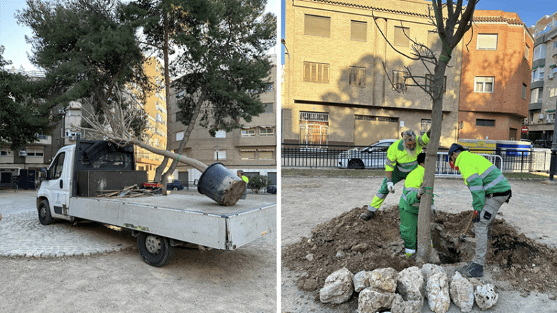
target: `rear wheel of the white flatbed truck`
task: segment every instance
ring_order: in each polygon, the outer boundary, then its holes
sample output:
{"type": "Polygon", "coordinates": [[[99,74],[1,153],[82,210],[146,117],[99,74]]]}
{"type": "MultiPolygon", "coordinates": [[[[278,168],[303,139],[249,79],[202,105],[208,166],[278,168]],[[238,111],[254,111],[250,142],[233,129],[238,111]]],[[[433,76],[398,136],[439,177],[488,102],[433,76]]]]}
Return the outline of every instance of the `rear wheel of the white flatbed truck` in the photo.
{"type": "Polygon", "coordinates": [[[176,252],[176,247],[170,245],[168,238],[146,232],[137,237],[137,246],[143,261],[157,267],[170,262],[176,252]]]}

